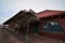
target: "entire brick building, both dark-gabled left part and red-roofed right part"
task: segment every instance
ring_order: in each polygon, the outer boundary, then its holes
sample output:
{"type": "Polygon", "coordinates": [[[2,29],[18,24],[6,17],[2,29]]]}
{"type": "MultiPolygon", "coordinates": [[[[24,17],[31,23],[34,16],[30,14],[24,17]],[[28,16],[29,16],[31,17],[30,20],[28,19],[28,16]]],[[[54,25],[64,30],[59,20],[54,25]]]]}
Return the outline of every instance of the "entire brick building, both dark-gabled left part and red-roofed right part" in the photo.
{"type": "Polygon", "coordinates": [[[32,10],[29,12],[21,11],[3,24],[8,24],[12,30],[21,28],[22,32],[26,32],[29,28],[28,32],[65,40],[65,11],[46,10],[39,13],[35,13],[32,10]],[[30,23],[27,22],[27,16],[31,18],[30,23]]]}

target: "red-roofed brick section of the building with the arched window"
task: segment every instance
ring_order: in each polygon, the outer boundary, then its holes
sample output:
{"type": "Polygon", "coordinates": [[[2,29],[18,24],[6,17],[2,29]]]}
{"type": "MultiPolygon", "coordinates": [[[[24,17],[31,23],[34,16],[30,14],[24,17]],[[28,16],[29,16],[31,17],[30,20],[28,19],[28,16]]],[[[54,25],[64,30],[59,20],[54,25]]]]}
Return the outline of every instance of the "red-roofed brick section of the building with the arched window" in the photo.
{"type": "Polygon", "coordinates": [[[39,32],[41,35],[65,39],[65,11],[46,10],[37,15],[40,18],[39,32]]]}

